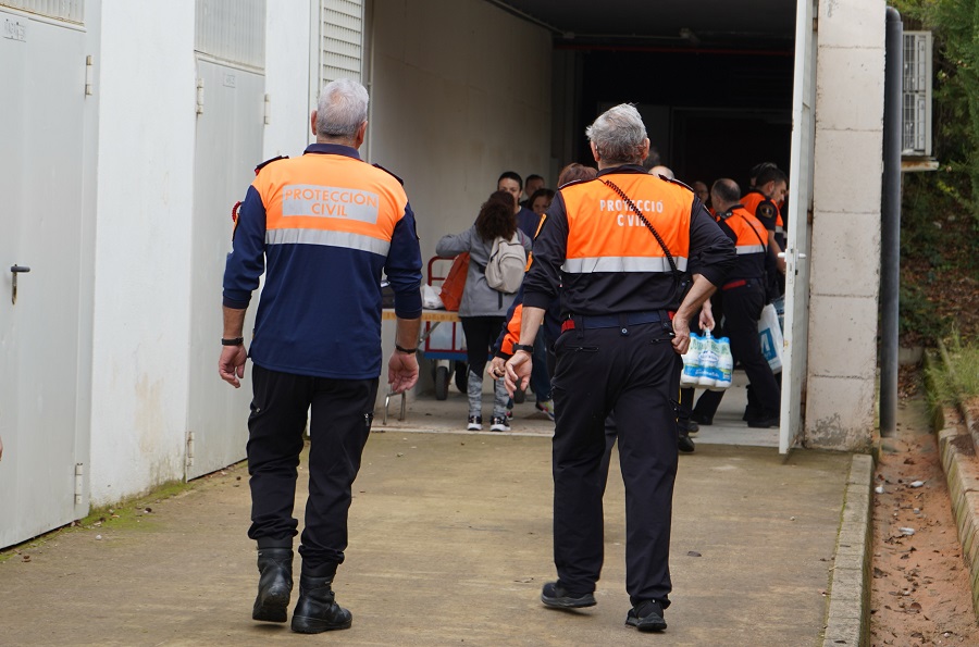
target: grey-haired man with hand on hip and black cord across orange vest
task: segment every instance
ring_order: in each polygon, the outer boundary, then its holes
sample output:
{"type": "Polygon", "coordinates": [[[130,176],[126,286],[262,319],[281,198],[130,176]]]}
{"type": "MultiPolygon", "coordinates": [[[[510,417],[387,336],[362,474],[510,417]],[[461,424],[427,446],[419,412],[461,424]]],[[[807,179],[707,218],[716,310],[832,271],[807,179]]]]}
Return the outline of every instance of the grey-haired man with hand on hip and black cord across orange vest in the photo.
{"type": "Polygon", "coordinates": [[[690,345],[687,321],[723,283],[734,246],[690,189],[643,169],[649,140],[635,108],[608,110],[586,134],[598,177],[561,187],[537,233],[506,384],[511,391],[525,385],[544,311],[560,298],[553,382],[558,580],[544,585],[541,600],[555,609],[595,605],[605,420],[615,411],[632,602],[625,623],[661,631],[672,587],[680,357],[690,345]]]}

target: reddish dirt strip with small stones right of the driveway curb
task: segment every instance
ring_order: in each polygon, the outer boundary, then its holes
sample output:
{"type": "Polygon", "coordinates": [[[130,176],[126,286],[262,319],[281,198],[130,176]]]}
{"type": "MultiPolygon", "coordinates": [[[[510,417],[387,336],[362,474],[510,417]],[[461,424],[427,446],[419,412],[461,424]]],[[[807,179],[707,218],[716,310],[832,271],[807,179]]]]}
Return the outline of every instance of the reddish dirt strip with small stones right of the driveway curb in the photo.
{"type": "Polygon", "coordinates": [[[897,426],[875,475],[871,645],[979,645],[938,440],[920,398],[901,402],[897,426]]]}

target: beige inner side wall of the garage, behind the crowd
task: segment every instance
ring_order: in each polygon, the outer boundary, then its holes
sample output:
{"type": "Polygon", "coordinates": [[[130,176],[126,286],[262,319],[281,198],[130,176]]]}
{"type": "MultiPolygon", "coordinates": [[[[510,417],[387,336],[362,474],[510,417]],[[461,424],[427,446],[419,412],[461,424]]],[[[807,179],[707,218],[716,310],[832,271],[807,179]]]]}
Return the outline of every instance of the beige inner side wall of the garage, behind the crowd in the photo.
{"type": "MultiPolygon", "coordinates": [[[[361,155],[405,181],[426,264],[439,237],[473,223],[504,171],[557,181],[547,177],[550,35],[483,0],[377,0],[368,28],[370,138],[361,155]]],[[[391,322],[382,343],[386,362],[391,322]]],[[[386,380],[385,368],[380,406],[386,380]]],[[[419,388],[431,384],[423,366],[419,388]]]]}

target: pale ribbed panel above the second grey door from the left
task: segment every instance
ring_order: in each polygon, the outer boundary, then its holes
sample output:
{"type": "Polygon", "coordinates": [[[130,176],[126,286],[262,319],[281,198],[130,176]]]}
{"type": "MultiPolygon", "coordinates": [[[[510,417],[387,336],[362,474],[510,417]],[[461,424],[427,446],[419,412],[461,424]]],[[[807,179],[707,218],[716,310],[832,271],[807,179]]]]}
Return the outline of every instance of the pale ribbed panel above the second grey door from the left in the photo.
{"type": "Polygon", "coordinates": [[[265,0],[196,0],[194,49],[261,70],[265,64],[265,0]]]}

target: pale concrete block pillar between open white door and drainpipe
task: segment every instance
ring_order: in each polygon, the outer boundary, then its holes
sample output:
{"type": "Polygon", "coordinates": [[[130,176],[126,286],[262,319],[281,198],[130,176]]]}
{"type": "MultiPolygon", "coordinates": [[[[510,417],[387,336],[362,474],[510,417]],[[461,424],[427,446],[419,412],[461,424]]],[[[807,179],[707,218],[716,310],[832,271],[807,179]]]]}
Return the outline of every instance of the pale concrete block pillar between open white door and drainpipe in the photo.
{"type": "Polygon", "coordinates": [[[806,441],[869,448],[875,427],[883,0],[820,0],[806,441]]]}

